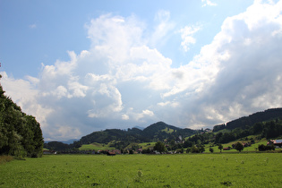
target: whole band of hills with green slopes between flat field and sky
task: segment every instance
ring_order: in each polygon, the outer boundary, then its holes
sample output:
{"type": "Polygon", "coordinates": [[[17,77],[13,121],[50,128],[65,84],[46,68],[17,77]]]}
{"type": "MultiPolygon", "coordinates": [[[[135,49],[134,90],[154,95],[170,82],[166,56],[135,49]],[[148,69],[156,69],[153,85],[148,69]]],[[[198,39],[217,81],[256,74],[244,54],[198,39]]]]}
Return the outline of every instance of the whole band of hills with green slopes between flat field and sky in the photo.
{"type": "MultiPolygon", "coordinates": [[[[246,150],[258,149],[259,145],[266,145],[270,139],[282,138],[282,108],[268,109],[247,117],[241,117],[226,124],[215,125],[213,131],[182,129],[164,122],[150,124],[144,130],[132,128],[128,130],[107,129],[92,132],[83,136],[73,144],[59,144],[56,141],[46,143],[47,149],[52,150],[153,150],[157,141],[166,145],[166,150],[184,152],[209,151],[209,146],[215,152],[218,144],[232,147],[236,142],[251,142],[252,146],[246,150]],[[261,116],[261,117],[260,117],[261,116]],[[246,121],[249,119],[248,121],[246,121]],[[244,120],[244,121],[243,121],[244,120]],[[258,122],[261,121],[262,122],[258,122]],[[238,123],[235,125],[235,123],[238,123]],[[243,124],[248,123],[248,124],[243,124]],[[253,123],[253,124],[251,124],[253,123]],[[229,124],[232,124],[229,125],[229,124]],[[230,128],[232,127],[232,128],[230,128]],[[201,149],[201,150],[200,150],[201,149]]],[[[230,151],[226,151],[230,152],[230,151]]]]}

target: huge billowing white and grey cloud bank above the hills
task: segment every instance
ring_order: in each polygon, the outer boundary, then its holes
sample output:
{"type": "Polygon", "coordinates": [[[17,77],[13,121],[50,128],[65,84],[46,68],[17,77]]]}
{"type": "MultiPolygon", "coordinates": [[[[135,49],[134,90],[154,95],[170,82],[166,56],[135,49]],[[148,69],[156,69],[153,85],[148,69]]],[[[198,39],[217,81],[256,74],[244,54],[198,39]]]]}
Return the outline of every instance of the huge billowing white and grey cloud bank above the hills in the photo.
{"type": "MultiPolygon", "coordinates": [[[[282,106],[281,13],[282,2],[255,2],[226,18],[213,41],[176,68],[154,47],[166,41],[167,33],[177,33],[169,13],[158,13],[151,32],[135,16],[104,14],[85,26],[89,49],[68,52],[66,62],[42,64],[37,78],[15,80],[3,72],[1,83],[37,117],[46,140],[157,121],[211,127],[282,106]]],[[[179,46],[189,50],[198,30],[178,30],[179,46]]]]}

